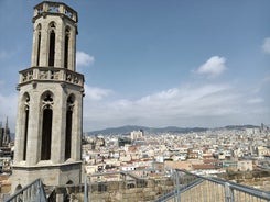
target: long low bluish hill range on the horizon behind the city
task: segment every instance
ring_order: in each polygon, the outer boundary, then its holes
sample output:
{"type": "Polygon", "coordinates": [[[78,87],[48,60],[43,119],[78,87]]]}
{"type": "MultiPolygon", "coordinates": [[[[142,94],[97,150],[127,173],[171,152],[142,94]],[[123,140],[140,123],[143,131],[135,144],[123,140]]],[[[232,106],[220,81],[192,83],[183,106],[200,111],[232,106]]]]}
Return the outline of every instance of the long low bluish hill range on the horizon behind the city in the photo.
{"type": "MultiPolygon", "coordinates": [[[[227,125],[224,127],[216,127],[212,130],[245,130],[245,128],[258,128],[256,125],[227,125]]],[[[207,127],[176,127],[176,126],[168,126],[168,127],[145,127],[139,125],[126,125],[120,127],[109,127],[100,131],[91,131],[86,132],[87,135],[116,135],[116,134],[129,134],[132,131],[143,130],[147,133],[191,133],[191,132],[205,132],[207,127]]]]}

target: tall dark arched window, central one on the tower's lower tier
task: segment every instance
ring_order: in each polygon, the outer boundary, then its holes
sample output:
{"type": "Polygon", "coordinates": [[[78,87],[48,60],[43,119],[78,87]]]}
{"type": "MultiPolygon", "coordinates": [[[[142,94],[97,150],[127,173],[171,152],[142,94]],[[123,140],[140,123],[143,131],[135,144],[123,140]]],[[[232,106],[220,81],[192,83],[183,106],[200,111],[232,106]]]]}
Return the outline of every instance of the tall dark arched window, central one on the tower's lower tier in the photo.
{"type": "Polygon", "coordinates": [[[50,93],[43,99],[43,121],[42,121],[42,143],[41,143],[41,160],[51,159],[52,143],[52,119],[53,119],[53,99],[50,93]]]}

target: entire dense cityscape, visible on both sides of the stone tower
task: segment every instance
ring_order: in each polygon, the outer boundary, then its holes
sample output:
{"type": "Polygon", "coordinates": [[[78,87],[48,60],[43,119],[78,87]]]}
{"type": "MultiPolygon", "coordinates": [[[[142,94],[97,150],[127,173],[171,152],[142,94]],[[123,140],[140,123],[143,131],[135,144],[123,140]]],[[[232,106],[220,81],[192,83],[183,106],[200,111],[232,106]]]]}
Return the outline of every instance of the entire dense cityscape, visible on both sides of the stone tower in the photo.
{"type": "MultiPolygon", "coordinates": [[[[83,136],[83,172],[93,182],[119,181],[121,171],[137,177],[161,179],[165,170],[182,169],[199,176],[258,173],[270,170],[270,128],[260,126],[227,126],[191,128],[186,132],[137,130],[125,134],[85,133],[83,136]]],[[[13,160],[13,139],[8,121],[1,127],[1,193],[9,194],[13,160]],[[7,142],[8,141],[8,142],[7,142]]],[[[264,178],[229,179],[237,183],[269,191],[269,175],[264,178]]],[[[242,178],[242,177],[241,177],[242,178]]]]}

